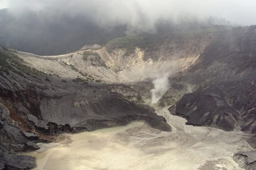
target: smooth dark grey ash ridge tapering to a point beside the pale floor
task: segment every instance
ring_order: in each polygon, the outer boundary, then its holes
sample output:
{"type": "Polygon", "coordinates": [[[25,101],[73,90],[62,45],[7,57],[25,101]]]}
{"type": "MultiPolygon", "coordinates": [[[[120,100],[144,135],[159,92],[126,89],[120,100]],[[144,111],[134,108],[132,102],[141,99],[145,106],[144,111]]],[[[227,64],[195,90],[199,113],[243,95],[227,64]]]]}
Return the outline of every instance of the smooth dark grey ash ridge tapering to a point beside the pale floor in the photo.
{"type": "Polygon", "coordinates": [[[118,93],[101,91],[90,93],[85,89],[59,98],[44,99],[40,106],[42,117],[46,121],[57,123],[49,123],[48,129],[52,131],[51,129],[56,129],[59,125],[69,123],[71,128],[84,127],[92,131],[103,127],[125,125],[134,120],[145,120],[154,128],[170,131],[170,126],[164,118],[157,116],[149,107],[129,102],[118,93]]]}

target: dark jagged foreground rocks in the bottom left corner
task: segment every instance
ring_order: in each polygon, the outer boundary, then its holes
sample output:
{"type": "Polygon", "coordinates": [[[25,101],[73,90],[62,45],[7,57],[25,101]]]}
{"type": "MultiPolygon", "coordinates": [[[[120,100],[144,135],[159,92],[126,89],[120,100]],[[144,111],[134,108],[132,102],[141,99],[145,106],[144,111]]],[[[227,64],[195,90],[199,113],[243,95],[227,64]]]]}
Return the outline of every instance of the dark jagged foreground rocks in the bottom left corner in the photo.
{"type": "Polygon", "coordinates": [[[3,123],[3,128],[0,129],[0,169],[27,170],[34,168],[36,165],[34,157],[16,155],[14,152],[34,150],[36,146],[32,148],[30,145],[24,145],[28,139],[23,133],[20,133],[21,128],[10,119],[8,110],[2,104],[0,104],[0,113],[3,123]]]}

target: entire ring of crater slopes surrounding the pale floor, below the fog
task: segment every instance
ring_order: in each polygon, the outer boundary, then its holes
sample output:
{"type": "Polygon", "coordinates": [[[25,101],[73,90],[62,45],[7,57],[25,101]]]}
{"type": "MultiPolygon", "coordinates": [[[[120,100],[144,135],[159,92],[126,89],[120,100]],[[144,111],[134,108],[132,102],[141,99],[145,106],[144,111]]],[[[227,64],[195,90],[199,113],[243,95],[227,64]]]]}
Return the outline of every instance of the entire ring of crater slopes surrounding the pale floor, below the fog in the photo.
{"type": "MultiPolygon", "coordinates": [[[[55,57],[4,48],[1,55],[1,113],[8,110],[9,116],[1,117],[5,135],[0,142],[6,155],[36,149],[30,140],[47,142],[49,136],[62,132],[90,131],[132,120],[170,131],[164,118],[144,105],[149,103],[151,81],[156,78],[146,68],[168,68],[164,72],[170,88],[158,105],[172,105],[170,113],[186,118],[187,124],[225,131],[240,128],[256,136],[255,26],[123,37],[100,49],[55,57]],[[103,82],[88,82],[95,79],[103,82]],[[24,140],[20,142],[12,133],[24,140]]],[[[255,136],[248,139],[252,147],[255,136]]],[[[1,160],[1,167],[12,168],[8,156],[1,160]]],[[[244,168],[255,166],[244,156],[236,158],[244,168]]],[[[32,158],[27,160],[26,168],[30,168],[32,158]]]]}

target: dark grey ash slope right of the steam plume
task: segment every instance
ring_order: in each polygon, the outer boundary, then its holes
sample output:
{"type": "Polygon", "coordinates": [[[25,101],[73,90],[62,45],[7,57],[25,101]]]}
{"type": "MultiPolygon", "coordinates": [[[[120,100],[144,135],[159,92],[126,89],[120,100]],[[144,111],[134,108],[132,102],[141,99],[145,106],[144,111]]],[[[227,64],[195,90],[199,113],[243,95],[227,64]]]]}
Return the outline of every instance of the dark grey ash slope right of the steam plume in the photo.
{"type": "MultiPolygon", "coordinates": [[[[255,75],[256,27],[234,28],[206,47],[198,61],[182,76],[170,79],[170,82],[179,82],[181,88],[182,84],[188,83],[196,90],[182,96],[169,110],[186,118],[188,125],[217,127],[225,131],[240,128],[254,134],[248,142],[255,149],[255,75]]],[[[165,98],[171,96],[170,92],[164,95],[165,98]]],[[[247,152],[240,152],[234,160],[245,169],[255,169],[255,157],[252,157],[247,152]]]]}

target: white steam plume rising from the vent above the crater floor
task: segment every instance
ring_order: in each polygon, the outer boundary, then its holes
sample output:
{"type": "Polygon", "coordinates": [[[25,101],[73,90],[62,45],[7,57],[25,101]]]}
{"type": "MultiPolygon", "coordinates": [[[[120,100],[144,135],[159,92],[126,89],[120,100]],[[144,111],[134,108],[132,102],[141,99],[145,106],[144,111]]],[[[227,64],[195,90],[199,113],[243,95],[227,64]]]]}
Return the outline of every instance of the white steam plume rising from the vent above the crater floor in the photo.
{"type": "Polygon", "coordinates": [[[155,104],[160,100],[160,98],[164,95],[164,93],[169,89],[170,84],[168,81],[169,74],[165,73],[162,76],[153,80],[154,88],[151,91],[152,98],[151,103],[155,104]]]}

